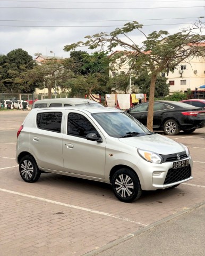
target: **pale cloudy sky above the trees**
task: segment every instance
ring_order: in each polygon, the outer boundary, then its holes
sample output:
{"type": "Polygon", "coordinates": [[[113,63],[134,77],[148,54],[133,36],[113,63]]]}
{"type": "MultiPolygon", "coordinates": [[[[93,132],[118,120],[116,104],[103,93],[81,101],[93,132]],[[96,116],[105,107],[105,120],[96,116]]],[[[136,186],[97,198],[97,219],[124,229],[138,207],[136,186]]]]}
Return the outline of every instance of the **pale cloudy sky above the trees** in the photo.
{"type": "MultiPolygon", "coordinates": [[[[0,54],[21,48],[33,58],[37,52],[66,58],[65,45],[133,20],[146,35],[155,30],[173,34],[205,16],[204,6],[204,0],[0,0],[0,54]]],[[[131,36],[139,45],[145,39],[139,32],[131,36]]]]}

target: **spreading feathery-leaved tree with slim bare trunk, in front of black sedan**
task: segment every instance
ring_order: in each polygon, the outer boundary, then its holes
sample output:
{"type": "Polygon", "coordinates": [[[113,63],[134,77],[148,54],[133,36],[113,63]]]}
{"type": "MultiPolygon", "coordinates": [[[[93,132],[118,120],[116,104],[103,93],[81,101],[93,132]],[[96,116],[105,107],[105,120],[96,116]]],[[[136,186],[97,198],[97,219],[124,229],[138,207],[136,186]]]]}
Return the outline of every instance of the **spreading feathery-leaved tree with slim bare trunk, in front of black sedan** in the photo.
{"type": "MultiPolygon", "coordinates": [[[[113,51],[117,46],[123,50],[114,55],[111,61],[116,59],[129,61],[130,72],[136,71],[144,66],[150,72],[151,83],[149,91],[149,110],[147,127],[152,130],[153,127],[153,103],[155,96],[155,84],[157,75],[166,71],[167,73],[175,68],[180,62],[204,54],[204,47],[200,46],[205,41],[205,36],[194,34],[193,30],[180,31],[176,34],[169,35],[167,31],[153,31],[146,35],[143,33],[142,25],[137,21],[126,23],[122,28],[116,28],[110,34],[99,33],[93,36],[86,36],[85,42],[77,42],[71,45],[65,45],[64,51],[71,51],[76,47],[87,46],[89,49],[100,49],[99,51],[113,51]],[[134,43],[127,35],[133,30],[139,31],[145,37],[142,46],[134,43]],[[127,41],[123,41],[119,36],[123,35],[127,41]]],[[[136,34],[136,33],[135,33],[136,34]]]]}

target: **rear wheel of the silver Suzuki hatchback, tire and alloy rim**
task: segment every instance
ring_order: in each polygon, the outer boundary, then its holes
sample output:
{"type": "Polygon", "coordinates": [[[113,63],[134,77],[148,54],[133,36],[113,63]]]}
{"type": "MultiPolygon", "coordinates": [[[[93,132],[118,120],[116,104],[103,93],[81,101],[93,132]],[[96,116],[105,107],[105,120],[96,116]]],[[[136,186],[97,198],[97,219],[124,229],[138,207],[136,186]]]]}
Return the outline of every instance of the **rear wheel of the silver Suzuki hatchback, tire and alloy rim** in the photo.
{"type": "Polygon", "coordinates": [[[40,178],[40,170],[32,156],[24,156],[19,163],[21,178],[26,182],[35,182],[40,178]]]}

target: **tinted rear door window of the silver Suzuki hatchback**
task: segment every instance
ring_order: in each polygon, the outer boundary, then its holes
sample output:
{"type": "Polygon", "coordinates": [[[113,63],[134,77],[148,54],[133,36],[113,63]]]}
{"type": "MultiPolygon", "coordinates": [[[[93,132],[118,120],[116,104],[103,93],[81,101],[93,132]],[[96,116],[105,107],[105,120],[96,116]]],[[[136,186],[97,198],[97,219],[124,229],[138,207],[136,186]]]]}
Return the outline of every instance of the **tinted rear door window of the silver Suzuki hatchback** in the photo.
{"type": "Polygon", "coordinates": [[[37,114],[37,127],[39,129],[60,133],[61,123],[61,112],[48,112],[37,114]]]}

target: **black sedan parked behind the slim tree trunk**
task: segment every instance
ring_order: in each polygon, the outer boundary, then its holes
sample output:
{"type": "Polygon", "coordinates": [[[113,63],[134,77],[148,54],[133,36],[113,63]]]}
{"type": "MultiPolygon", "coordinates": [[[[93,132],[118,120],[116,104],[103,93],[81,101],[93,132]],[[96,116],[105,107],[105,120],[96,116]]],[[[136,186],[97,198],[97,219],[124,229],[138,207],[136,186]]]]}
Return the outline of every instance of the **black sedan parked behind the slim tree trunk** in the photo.
{"type": "MultiPolygon", "coordinates": [[[[143,125],[147,125],[149,102],[141,103],[127,110],[143,125]]],[[[205,126],[205,110],[178,101],[155,101],[153,107],[153,131],[164,131],[167,135],[177,135],[182,130],[192,133],[205,126]]]]}

